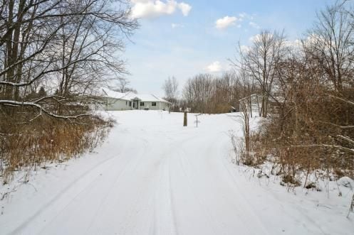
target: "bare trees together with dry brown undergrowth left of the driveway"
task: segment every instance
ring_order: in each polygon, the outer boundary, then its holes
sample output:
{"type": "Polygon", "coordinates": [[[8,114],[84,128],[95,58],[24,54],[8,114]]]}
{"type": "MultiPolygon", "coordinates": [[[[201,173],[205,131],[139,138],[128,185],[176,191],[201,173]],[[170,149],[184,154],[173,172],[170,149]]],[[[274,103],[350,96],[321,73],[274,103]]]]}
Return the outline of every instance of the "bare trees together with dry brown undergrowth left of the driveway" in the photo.
{"type": "Polygon", "coordinates": [[[4,0],[0,13],[0,175],[6,175],[95,143],[85,136],[105,122],[86,104],[125,72],[124,38],[137,22],[125,0],[4,0]]]}

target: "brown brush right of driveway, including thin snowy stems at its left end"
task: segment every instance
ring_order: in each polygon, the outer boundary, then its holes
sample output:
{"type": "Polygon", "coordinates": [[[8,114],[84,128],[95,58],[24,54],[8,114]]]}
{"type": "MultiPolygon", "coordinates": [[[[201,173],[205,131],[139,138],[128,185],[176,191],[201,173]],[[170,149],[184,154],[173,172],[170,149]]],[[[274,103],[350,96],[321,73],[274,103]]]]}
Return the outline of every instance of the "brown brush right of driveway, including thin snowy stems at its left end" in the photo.
{"type": "MultiPolygon", "coordinates": [[[[330,91],[320,84],[303,83],[300,81],[298,87],[293,85],[296,93],[287,96],[288,100],[277,114],[259,124],[259,132],[249,133],[249,138],[231,136],[235,162],[258,166],[270,160],[278,166],[275,174],[281,177],[284,185],[298,186],[316,172],[323,173],[321,179],[353,178],[354,153],[350,149],[354,149],[354,143],[340,136],[354,139],[354,128],[343,128],[353,126],[354,106],[332,99],[328,96],[330,91]]],[[[354,100],[354,88],[334,95],[354,100]]],[[[241,124],[245,126],[248,121],[242,117],[241,124]]],[[[303,186],[310,187],[306,181],[303,186]]]]}

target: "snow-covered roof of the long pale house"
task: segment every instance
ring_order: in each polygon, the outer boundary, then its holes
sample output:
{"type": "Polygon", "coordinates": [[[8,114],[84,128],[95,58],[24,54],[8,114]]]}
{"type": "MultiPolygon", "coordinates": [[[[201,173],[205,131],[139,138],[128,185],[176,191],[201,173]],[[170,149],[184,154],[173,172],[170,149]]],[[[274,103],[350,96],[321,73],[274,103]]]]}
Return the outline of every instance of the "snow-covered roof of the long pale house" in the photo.
{"type": "Polygon", "coordinates": [[[132,100],[132,99],[139,99],[142,102],[165,102],[165,103],[170,103],[167,102],[165,99],[162,99],[160,97],[155,96],[154,94],[134,94],[132,92],[126,92],[126,93],[121,93],[121,92],[115,92],[111,89],[103,88],[103,96],[104,97],[110,97],[114,99],[123,99],[123,100],[132,100]]]}

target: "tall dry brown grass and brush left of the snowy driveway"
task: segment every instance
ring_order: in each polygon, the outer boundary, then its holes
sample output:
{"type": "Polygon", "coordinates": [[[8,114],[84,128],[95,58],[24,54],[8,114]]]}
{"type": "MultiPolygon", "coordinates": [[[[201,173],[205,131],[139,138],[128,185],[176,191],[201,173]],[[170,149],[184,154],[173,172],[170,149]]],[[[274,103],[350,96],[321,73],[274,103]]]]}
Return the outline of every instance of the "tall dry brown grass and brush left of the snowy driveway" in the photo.
{"type": "Polygon", "coordinates": [[[37,170],[43,164],[61,162],[92,151],[109,131],[110,122],[98,117],[75,121],[40,116],[31,122],[31,111],[1,110],[0,177],[11,180],[17,170],[37,170]],[[17,117],[17,118],[16,118],[17,117]]]}

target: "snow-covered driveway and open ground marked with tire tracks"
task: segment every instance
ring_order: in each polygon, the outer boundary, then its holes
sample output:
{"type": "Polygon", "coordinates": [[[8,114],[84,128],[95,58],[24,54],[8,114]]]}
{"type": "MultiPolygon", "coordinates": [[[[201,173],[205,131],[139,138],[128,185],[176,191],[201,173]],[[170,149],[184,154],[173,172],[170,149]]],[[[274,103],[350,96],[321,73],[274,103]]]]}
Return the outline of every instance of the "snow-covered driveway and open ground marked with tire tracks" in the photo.
{"type": "MultiPolygon", "coordinates": [[[[0,201],[0,234],[354,234],[353,190],[288,192],[231,163],[230,114],[111,112],[102,146],[33,173],[0,201]]],[[[22,180],[23,181],[23,180],[22,180]]],[[[0,192],[11,190],[2,185],[0,192]]]]}

